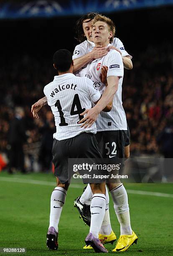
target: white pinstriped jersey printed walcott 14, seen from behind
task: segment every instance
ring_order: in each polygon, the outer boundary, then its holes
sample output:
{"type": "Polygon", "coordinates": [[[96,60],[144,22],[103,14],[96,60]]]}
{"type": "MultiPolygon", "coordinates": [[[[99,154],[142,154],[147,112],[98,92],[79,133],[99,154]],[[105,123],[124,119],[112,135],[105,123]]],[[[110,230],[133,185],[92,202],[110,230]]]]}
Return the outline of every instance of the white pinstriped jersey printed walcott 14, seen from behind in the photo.
{"type": "Polygon", "coordinates": [[[56,133],[53,138],[61,141],[83,132],[96,133],[95,124],[86,129],[78,124],[84,117],[80,113],[92,108],[92,102],[101,97],[89,78],[76,77],[71,73],[55,76],[53,81],[44,87],[44,94],[55,118],[56,133]]]}

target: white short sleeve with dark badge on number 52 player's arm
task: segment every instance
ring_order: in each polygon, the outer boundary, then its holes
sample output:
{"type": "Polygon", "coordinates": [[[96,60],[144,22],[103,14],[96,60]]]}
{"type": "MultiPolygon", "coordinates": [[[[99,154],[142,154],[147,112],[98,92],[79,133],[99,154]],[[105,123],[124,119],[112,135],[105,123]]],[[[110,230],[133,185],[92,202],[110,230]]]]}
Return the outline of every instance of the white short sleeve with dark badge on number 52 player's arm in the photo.
{"type": "Polygon", "coordinates": [[[105,61],[105,66],[108,67],[107,77],[123,77],[124,66],[122,62],[122,56],[118,51],[109,51],[109,55],[107,56],[107,59],[105,61]]]}

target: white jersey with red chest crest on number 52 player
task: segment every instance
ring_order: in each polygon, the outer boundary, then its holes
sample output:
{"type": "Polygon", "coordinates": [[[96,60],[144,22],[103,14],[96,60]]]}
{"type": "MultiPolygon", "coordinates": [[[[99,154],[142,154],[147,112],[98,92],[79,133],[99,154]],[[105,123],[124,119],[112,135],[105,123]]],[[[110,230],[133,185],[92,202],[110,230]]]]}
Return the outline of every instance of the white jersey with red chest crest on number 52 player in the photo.
{"type": "Polygon", "coordinates": [[[107,77],[117,76],[120,77],[120,79],[118,90],[114,95],[112,110],[110,112],[101,111],[97,118],[97,131],[127,130],[126,115],[122,107],[122,80],[124,67],[121,54],[118,51],[110,50],[106,56],[100,59],[95,59],[86,67],[80,69],[79,73],[76,75],[91,79],[93,85],[101,92],[101,94],[103,94],[106,87],[99,78],[102,66],[108,67],[107,77]]]}

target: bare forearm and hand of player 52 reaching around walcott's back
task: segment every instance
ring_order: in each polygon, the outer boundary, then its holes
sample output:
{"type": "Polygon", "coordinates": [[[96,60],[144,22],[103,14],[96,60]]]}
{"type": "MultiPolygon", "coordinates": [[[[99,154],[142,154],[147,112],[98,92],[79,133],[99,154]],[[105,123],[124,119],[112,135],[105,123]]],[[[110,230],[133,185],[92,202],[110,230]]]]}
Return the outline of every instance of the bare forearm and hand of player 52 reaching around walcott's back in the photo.
{"type": "Polygon", "coordinates": [[[119,77],[110,76],[107,77],[107,88],[104,90],[101,99],[98,101],[97,105],[94,108],[86,109],[80,115],[87,114],[82,118],[79,123],[82,123],[81,127],[87,128],[91,127],[93,123],[97,120],[99,113],[109,105],[109,102],[112,102],[115,92],[118,89],[119,77]],[[83,123],[84,122],[84,123],[83,123]]]}

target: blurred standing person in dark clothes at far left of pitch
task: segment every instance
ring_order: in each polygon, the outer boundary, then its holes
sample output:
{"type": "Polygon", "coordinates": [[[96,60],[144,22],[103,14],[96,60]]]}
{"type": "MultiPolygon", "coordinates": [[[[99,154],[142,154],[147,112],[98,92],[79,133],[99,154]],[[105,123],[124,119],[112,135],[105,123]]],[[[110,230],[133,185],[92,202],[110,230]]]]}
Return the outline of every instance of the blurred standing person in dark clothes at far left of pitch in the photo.
{"type": "Polygon", "coordinates": [[[9,173],[13,173],[13,168],[25,173],[23,144],[26,141],[26,134],[24,116],[23,108],[15,108],[15,116],[10,122],[8,133],[9,173]]]}

